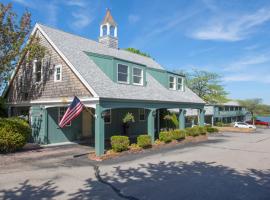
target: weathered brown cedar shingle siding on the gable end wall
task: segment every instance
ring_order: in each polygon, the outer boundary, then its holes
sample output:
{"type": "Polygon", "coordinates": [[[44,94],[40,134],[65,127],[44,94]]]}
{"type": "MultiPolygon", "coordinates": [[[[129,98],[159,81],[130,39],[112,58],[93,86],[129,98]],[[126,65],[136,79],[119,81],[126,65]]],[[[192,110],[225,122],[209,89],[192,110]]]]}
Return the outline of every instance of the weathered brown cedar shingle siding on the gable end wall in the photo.
{"type": "Polygon", "coordinates": [[[42,81],[35,83],[32,64],[22,62],[14,81],[9,87],[7,100],[9,103],[22,103],[31,100],[43,100],[59,97],[92,97],[79,78],[67,66],[65,61],[37,31],[40,43],[47,48],[47,53],[42,60],[42,81]],[[54,66],[62,65],[62,81],[54,82],[54,66]]]}

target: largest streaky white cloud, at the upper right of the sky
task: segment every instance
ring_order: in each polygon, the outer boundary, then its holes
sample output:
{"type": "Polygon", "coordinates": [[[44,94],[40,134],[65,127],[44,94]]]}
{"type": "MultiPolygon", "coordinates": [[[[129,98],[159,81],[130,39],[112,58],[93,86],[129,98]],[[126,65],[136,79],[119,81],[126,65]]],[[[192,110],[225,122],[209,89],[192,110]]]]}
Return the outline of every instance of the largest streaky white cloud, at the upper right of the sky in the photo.
{"type": "Polygon", "coordinates": [[[191,37],[200,40],[238,41],[247,38],[259,25],[270,20],[270,10],[260,9],[253,14],[217,16],[210,24],[195,30],[191,37]]]}

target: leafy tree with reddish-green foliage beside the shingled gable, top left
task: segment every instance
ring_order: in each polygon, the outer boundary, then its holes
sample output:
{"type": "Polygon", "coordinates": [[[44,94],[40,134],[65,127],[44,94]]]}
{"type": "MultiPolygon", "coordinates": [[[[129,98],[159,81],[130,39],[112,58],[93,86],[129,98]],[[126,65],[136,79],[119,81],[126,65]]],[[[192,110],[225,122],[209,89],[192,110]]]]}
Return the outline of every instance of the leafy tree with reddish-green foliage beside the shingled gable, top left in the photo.
{"type": "Polygon", "coordinates": [[[44,57],[45,47],[38,38],[30,38],[31,14],[25,11],[20,18],[12,10],[12,4],[0,3],[0,90],[3,89],[20,58],[29,53],[30,59],[44,57]],[[38,56],[37,56],[38,55],[38,56]]]}

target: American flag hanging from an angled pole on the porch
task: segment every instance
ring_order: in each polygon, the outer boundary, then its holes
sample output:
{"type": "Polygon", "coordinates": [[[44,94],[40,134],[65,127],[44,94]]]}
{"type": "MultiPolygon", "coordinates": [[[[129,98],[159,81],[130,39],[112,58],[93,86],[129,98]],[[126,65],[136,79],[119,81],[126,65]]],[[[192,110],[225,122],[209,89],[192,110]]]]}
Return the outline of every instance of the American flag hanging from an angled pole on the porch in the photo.
{"type": "Polygon", "coordinates": [[[78,99],[78,97],[75,96],[61,121],[59,122],[59,127],[63,128],[73,119],[75,119],[83,111],[83,107],[84,105],[82,102],[78,99]]]}

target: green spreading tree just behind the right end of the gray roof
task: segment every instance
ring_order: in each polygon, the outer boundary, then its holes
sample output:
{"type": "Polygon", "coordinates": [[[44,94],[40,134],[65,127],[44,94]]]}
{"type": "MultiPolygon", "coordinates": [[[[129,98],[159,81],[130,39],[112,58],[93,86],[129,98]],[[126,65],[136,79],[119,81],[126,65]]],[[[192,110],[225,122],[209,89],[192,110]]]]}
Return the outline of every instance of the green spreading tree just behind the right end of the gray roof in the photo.
{"type": "Polygon", "coordinates": [[[193,70],[186,73],[187,86],[205,102],[216,104],[228,101],[227,92],[221,84],[221,76],[207,71],[193,70]]]}

